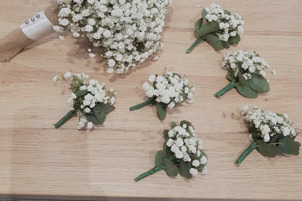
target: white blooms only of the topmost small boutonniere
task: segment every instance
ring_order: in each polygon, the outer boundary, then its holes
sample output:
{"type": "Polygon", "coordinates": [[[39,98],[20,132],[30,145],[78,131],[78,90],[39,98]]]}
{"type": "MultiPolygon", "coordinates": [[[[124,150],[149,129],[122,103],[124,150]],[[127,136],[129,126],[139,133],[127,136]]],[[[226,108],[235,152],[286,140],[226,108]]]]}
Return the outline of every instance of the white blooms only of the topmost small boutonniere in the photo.
{"type": "Polygon", "coordinates": [[[244,21],[238,13],[234,15],[225,14],[225,11],[215,3],[210,4],[210,8],[204,8],[205,18],[208,22],[218,22],[220,32],[216,35],[221,41],[228,41],[230,36],[242,35],[244,21]]]}

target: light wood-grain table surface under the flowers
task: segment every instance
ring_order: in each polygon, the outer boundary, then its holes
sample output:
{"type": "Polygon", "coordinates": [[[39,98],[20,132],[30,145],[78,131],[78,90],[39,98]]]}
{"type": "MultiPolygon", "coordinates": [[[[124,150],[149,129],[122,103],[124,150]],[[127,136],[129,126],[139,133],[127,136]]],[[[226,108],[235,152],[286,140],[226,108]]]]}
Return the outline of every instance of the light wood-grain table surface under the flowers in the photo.
{"type": "MultiPolygon", "coordinates": [[[[0,37],[51,2],[2,1],[0,37]]],[[[185,53],[195,40],[194,23],[201,17],[197,5],[208,6],[212,1],[187,2],[174,0],[168,10],[159,60],[144,62],[126,74],[107,74],[103,62],[87,57],[87,46],[70,36],[60,41],[56,33],[40,38],[10,62],[0,63],[0,197],[302,199],[302,155],[268,159],[254,151],[242,166],[234,165],[249,144],[248,128],[238,113],[241,106],[287,113],[295,128],[302,130],[302,1],[216,2],[238,12],[246,23],[242,41],[229,50],[256,51],[277,70],[276,76],[269,77],[269,93],[248,99],[233,89],[220,100],[214,94],[228,83],[226,71],[220,68],[228,50],[215,52],[201,43],[185,53]],[[130,106],[146,100],[141,85],[150,74],[163,72],[165,65],[186,74],[189,83],[196,85],[193,105],[168,110],[164,121],[159,121],[152,106],[130,112],[130,106]],[[59,129],[53,127],[68,111],[70,91],[52,79],[69,69],[85,72],[118,91],[116,110],[103,126],[78,131],[74,117],[59,129]],[[184,119],[193,122],[204,141],[208,175],[186,180],[160,171],[134,182],[154,166],[154,155],[164,142],[162,131],[172,121],[184,119]]],[[[301,142],[302,137],[296,140],[301,142]]]]}

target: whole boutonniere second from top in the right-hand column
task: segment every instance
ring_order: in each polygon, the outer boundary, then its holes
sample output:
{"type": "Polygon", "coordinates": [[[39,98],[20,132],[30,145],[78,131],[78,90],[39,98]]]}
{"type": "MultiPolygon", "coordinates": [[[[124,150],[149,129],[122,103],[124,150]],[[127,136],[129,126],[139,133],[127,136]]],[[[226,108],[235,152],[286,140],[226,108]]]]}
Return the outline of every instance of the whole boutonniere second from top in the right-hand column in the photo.
{"type": "MultiPolygon", "coordinates": [[[[234,87],[239,94],[248,98],[256,98],[258,93],[270,91],[269,79],[266,78],[265,72],[270,65],[255,52],[227,52],[223,57],[222,68],[227,70],[226,78],[230,84],[215,94],[217,98],[234,87]]],[[[275,75],[276,71],[272,70],[271,74],[275,75]]]]}

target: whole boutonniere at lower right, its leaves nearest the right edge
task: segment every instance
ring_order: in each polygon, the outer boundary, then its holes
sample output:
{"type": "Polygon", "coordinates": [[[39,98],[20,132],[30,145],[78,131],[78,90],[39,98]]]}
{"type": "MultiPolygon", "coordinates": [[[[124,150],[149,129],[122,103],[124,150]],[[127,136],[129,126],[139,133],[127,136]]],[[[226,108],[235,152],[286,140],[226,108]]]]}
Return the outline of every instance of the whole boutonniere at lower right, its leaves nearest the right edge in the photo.
{"type": "Polygon", "coordinates": [[[257,107],[249,111],[248,106],[243,106],[240,113],[249,122],[249,140],[252,143],[236,160],[236,165],[240,165],[254,149],[261,155],[272,158],[283,154],[299,155],[301,144],[294,141],[298,133],[292,128],[294,123],[288,120],[287,114],[263,111],[257,107]]]}

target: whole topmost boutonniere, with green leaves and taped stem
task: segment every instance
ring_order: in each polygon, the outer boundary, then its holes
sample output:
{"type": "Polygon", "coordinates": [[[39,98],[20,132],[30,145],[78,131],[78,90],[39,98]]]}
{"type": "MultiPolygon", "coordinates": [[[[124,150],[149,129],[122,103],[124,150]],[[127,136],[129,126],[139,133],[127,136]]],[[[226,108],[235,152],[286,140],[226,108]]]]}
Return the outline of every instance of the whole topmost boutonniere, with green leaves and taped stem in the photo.
{"type": "MultiPolygon", "coordinates": [[[[200,6],[199,6],[200,7],[200,6]]],[[[238,13],[232,15],[229,11],[223,10],[219,5],[211,3],[209,8],[201,12],[202,18],[196,21],[195,31],[199,38],[187,50],[190,53],[201,41],[206,41],[215,51],[229,48],[230,44],[238,44],[240,35],[244,30],[244,21],[238,13]]]]}

